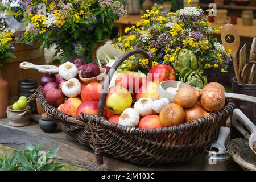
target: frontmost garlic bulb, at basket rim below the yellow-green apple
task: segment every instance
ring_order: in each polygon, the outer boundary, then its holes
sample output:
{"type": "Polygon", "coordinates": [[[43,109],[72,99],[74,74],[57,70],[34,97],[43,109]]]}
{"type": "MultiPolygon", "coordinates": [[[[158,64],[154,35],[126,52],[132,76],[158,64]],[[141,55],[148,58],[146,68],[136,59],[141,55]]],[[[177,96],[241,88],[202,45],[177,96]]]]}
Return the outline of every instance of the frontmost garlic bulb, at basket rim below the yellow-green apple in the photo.
{"type": "Polygon", "coordinates": [[[139,123],[139,113],[133,108],[127,108],[119,117],[119,125],[135,127],[139,123]]]}

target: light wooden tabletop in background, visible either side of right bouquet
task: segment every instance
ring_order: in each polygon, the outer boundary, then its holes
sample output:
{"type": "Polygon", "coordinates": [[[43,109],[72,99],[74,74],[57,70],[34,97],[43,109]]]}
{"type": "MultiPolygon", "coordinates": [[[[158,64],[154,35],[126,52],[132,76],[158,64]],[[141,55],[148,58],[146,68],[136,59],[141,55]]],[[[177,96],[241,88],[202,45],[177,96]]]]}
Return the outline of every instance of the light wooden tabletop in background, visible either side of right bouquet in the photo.
{"type": "MultiPolygon", "coordinates": [[[[115,22],[115,26],[132,26],[135,25],[139,20],[141,20],[142,15],[126,15],[122,18],[119,18],[115,22]]],[[[227,21],[226,23],[229,23],[230,21],[227,21]]],[[[218,23],[211,23],[213,28],[220,28],[221,26],[224,26],[224,24],[218,24],[218,23]]],[[[237,18],[237,24],[234,25],[241,37],[244,38],[254,38],[256,37],[256,19],[253,20],[253,26],[243,26],[242,25],[242,18],[237,18]]],[[[123,28],[123,27],[120,27],[123,28]]]]}

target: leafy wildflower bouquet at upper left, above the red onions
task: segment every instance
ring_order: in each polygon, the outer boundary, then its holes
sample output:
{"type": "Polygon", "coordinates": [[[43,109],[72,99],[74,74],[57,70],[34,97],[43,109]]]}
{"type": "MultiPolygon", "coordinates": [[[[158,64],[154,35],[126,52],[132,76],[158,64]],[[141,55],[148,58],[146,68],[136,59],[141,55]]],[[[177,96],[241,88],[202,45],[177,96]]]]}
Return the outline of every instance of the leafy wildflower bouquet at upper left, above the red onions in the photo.
{"type": "Polygon", "coordinates": [[[42,48],[56,44],[61,62],[87,55],[96,42],[110,36],[114,21],[126,14],[124,0],[19,0],[26,32],[18,40],[42,48]]]}

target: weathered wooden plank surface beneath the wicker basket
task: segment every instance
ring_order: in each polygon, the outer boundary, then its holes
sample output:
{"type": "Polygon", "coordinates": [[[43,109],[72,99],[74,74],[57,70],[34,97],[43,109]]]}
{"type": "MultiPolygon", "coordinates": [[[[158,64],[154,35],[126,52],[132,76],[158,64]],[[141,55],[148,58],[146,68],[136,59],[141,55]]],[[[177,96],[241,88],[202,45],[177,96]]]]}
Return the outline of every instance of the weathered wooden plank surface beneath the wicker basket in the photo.
{"type": "MultiPolygon", "coordinates": [[[[191,160],[183,163],[172,163],[154,167],[137,166],[121,160],[113,159],[104,155],[104,164],[96,164],[96,156],[92,149],[80,146],[79,143],[67,134],[56,130],[55,133],[44,133],[37,123],[25,127],[9,126],[7,118],[0,119],[0,144],[23,150],[26,142],[38,144],[43,142],[44,150],[54,146],[60,146],[59,155],[56,157],[61,162],[91,170],[202,170],[203,155],[194,156],[191,160]]],[[[232,169],[240,169],[233,164],[232,169]]]]}

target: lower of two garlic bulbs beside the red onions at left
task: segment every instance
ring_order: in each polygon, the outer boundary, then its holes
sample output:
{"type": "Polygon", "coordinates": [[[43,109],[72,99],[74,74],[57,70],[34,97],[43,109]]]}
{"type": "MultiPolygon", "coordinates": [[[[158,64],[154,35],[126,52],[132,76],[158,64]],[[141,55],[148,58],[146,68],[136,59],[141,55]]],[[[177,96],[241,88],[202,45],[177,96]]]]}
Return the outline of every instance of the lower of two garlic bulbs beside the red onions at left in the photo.
{"type": "Polygon", "coordinates": [[[76,78],[71,78],[61,85],[62,93],[67,97],[76,97],[81,93],[82,85],[76,78]]]}

